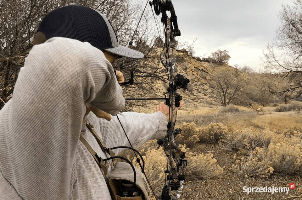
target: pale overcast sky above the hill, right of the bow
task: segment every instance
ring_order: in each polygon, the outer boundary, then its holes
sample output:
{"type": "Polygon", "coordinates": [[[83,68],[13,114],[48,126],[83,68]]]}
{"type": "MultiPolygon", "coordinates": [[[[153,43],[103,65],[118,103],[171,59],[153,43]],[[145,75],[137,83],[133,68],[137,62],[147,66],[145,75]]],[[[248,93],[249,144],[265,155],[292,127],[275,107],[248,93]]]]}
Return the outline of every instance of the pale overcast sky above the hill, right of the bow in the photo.
{"type": "Polygon", "coordinates": [[[260,67],[274,38],[282,4],[292,0],[173,0],[181,38],[195,43],[196,56],[228,50],[229,64],[260,67]]]}

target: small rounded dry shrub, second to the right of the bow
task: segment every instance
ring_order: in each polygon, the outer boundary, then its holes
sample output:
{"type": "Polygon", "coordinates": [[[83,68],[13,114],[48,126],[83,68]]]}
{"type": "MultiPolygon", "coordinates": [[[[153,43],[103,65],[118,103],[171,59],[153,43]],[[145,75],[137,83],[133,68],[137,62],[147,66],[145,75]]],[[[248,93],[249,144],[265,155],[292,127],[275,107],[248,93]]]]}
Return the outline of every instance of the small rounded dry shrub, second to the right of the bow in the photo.
{"type": "Polygon", "coordinates": [[[229,130],[222,123],[211,123],[206,127],[198,129],[198,138],[204,143],[218,143],[220,139],[225,139],[229,130]]]}

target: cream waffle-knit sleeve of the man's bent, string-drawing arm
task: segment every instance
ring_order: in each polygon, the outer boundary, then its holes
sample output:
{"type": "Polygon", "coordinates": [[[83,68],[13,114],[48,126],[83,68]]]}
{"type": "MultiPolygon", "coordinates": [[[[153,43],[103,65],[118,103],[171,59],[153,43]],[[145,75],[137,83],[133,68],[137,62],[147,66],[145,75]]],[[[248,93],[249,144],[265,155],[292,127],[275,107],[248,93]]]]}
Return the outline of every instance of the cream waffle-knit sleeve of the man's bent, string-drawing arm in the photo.
{"type": "Polygon", "coordinates": [[[1,171],[22,198],[69,199],[86,102],[112,115],[125,105],[102,51],[66,38],[34,46],[0,112],[1,171]]]}

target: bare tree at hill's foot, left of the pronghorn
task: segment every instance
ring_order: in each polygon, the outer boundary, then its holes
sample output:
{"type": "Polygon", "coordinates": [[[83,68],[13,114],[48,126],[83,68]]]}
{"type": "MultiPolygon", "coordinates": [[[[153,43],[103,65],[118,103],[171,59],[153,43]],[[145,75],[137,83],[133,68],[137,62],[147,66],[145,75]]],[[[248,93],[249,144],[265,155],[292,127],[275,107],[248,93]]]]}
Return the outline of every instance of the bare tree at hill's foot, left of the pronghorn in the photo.
{"type": "Polygon", "coordinates": [[[215,79],[214,88],[220,96],[221,105],[223,107],[229,104],[240,104],[243,99],[242,90],[246,86],[242,79],[232,80],[232,77],[223,73],[215,79]]]}

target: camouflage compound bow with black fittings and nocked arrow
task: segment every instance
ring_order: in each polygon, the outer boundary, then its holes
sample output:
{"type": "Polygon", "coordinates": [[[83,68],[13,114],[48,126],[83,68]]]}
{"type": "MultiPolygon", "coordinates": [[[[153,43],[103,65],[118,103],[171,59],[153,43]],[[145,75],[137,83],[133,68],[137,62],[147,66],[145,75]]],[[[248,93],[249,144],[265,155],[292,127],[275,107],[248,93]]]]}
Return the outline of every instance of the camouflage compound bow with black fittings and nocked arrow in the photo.
{"type": "MultiPolygon", "coordinates": [[[[147,6],[148,2],[146,3],[147,6]]],[[[161,52],[160,61],[165,66],[168,72],[168,82],[169,86],[167,92],[164,95],[168,95],[168,98],[126,98],[129,100],[165,100],[165,104],[170,107],[169,116],[171,116],[171,122],[168,123],[168,132],[165,138],[159,139],[157,144],[163,146],[165,155],[167,156],[168,164],[167,170],[165,171],[166,180],[165,186],[162,189],[161,195],[155,196],[153,189],[146,177],[149,186],[156,199],[171,200],[179,199],[182,193],[182,188],[185,180],[185,171],[187,166],[187,160],[185,152],[183,152],[175,143],[175,137],[177,134],[181,133],[181,129],[174,129],[177,108],[180,107],[180,101],[182,96],[178,93],[178,89],[187,89],[187,84],[190,82],[186,77],[181,74],[177,74],[176,71],[176,47],[178,42],[175,40],[176,36],[180,36],[180,30],[178,29],[177,16],[171,0],[153,0],[149,2],[151,8],[154,7],[156,15],[162,14],[161,22],[164,24],[165,28],[165,44],[161,52]],[[168,11],[170,11],[171,16],[168,17],[168,11]],[[171,195],[171,191],[177,191],[175,196],[171,195]]],[[[146,8],[146,7],[145,7],[146,8]]],[[[145,9],[144,9],[145,10],[145,9]]],[[[153,12],[153,9],[152,9],[153,12]]],[[[153,13],[154,15],[154,13],[153,13]]],[[[154,16],[155,19],[155,16],[154,16]]],[[[156,22],[155,22],[156,23],[156,22]]],[[[138,25],[137,25],[138,26],[138,25]]],[[[136,33],[136,30],[134,34],[136,33]]],[[[132,45],[133,37],[129,43],[132,45]]],[[[118,118],[118,117],[117,117],[118,118]]],[[[119,120],[119,118],[118,118],[119,120]]],[[[120,123],[122,126],[122,124],[120,123]]],[[[123,127],[122,127],[123,128],[123,127]]],[[[124,130],[124,129],[123,129],[124,130]]],[[[125,130],[124,130],[125,132],[125,130]]],[[[126,132],[125,132],[126,134],[126,132]]],[[[127,134],[126,134],[127,137],[127,134]]],[[[127,137],[128,139],[128,137],[127,137]]],[[[128,139],[129,141],[129,139],[128,139]]],[[[129,141],[130,143],[130,141],[129,141]]],[[[131,145],[131,143],[130,143],[131,145]]],[[[132,147],[132,145],[131,145],[132,147]]],[[[133,147],[132,147],[133,148],[133,147]]],[[[137,157],[137,154],[134,152],[137,157]]],[[[140,160],[137,157],[137,162],[140,164],[140,160]]],[[[142,166],[141,166],[142,168],[142,166]]],[[[143,169],[142,169],[143,171],[143,169]]],[[[143,171],[144,173],[144,171],[143,171]]]]}

